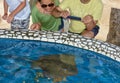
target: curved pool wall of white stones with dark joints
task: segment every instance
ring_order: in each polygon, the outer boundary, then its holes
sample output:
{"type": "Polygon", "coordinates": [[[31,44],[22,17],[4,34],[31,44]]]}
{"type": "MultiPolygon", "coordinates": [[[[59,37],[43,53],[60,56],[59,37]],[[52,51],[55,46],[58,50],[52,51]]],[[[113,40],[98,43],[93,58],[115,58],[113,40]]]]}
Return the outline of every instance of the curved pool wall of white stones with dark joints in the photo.
{"type": "Polygon", "coordinates": [[[83,37],[74,33],[50,31],[11,31],[0,30],[0,38],[39,40],[67,44],[106,55],[120,62],[120,47],[93,38],[83,37]]]}

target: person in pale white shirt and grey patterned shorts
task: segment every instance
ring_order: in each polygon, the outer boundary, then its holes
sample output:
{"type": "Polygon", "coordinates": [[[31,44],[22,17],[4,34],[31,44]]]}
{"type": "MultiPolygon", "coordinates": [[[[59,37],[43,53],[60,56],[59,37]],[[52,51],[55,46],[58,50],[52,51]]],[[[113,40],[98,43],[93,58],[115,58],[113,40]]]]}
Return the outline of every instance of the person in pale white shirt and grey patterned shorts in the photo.
{"type": "Polygon", "coordinates": [[[4,15],[2,18],[11,23],[11,30],[28,29],[30,18],[28,0],[4,0],[4,15]],[[8,14],[8,8],[10,14],[8,14]]]}

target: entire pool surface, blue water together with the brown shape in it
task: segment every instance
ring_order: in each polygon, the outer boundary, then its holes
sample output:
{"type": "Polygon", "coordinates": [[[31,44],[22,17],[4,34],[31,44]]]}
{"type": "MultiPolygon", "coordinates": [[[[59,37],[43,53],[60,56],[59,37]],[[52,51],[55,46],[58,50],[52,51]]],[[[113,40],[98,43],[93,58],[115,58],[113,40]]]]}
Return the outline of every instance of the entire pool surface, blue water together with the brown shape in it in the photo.
{"type": "Polygon", "coordinates": [[[120,62],[64,44],[0,39],[0,83],[120,83],[120,62]]]}

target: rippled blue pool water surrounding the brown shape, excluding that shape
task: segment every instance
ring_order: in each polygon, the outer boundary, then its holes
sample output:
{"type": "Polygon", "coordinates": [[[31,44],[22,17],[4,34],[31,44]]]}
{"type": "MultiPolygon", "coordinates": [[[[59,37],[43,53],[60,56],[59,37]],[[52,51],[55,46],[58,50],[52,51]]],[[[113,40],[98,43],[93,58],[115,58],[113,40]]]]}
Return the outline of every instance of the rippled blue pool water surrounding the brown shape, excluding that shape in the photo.
{"type": "Polygon", "coordinates": [[[120,62],[81,48],[34,40],[0,39],[0,83],[53,83],[35,76],[29,60],[52,54],[72,54],[78,73],[59,83],[120,83],[120,62]]]}

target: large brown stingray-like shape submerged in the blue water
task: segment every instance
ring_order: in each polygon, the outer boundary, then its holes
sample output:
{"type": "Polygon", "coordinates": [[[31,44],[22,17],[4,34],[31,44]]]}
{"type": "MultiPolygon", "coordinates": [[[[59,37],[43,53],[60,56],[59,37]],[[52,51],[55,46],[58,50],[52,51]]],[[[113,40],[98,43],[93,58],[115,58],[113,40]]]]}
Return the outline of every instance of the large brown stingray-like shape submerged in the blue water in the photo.
{"type": "Polygon", "coordinates": [[[46,55],[32,61],[32,67],[40,67],[43,76],[53,78],[54,82],[63,81],[67,76],[77,74],[75,57],[68,54],[46,55]]]}

